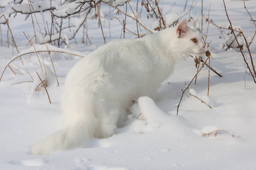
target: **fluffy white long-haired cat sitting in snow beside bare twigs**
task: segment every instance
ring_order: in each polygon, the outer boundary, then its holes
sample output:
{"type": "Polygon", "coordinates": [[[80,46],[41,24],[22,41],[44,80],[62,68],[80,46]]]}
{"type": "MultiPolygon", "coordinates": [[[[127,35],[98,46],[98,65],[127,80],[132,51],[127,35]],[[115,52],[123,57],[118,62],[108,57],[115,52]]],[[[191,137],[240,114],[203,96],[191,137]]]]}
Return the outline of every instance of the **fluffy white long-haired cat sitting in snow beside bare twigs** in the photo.
{"type": "Polygon", "coordinates": [[[61,108],[66,128],[31,147],[51,154],[108,138],[140,96],[155,99],[176,61],[204,53],[201,33],[182,20],[175,28],[135,40],[117,40],[81,59],[68,73],[61,108]]]}

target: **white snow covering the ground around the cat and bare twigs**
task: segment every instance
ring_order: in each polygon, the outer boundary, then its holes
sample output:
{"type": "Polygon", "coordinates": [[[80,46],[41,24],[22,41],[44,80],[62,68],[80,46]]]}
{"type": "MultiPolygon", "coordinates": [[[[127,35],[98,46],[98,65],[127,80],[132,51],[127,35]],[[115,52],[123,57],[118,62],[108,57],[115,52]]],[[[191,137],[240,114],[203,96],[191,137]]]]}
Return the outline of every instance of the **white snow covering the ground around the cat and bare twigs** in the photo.
{"type": "MultiPolygon", "coordinates": [[[[201,11],[201,1],[195,2],[192,16],[201,11]]],[[[132,1],[131,4],[135,6],[136,2],[132,1]]],[[[184,4],[185,1],[177,1],[171,12],[180,15],[184,4]]],[[[165,12],[172,5],[173,2],[168,0],[161,0],[159,3],[165,12]]],[[[188,1],[187,8],[190,5],[191,1],[188,1]]],[[[226,1],[226,6],[233,24],[240,25],[246,36],[252,36],[255,27],[243,7],[243,1],[226,1]]],[[[255,1],[246,1],[246,6],[255,18],[255,1]]],[[[208,16],[209,1],[204,2],[204,7],[204,14],[208,16]]],[[[106,7],[106,11],[108,10],[110,8],[106,7]]],[[[210,18],[222,27],[228,25],[221,0],[211,2],[210,18]]],[[[47,17],[44,19],[47,20],[47,17]]],[[[104,31],[109,42],[120,37],[121,26],[117,20],[111,21],[110,39],[108,19],[104,20],[104,31]]],[[[142,20],[144,24],[151,24],[144,18],[142,20]]],[[[201,21],[200,15],[199,20],[201,21]]],[[[207,23],[203,23],[206,33],[207,23]]],[[[24,45],[27,40],[23,32],[32,35],[31,21],[24,22],[23,16],[18,15],[10,18],[10,27],[20,52],[29,49],[30,46],[24,45]]],[[[76,45],[71,42],[68,50],[86,56],[103,45],[97,21],[91,20],[88,27],[92,45],[76,45]]],[[[136,24],[127,27],[136,27],[136,24]]],[[[6,30],[3,25],[2,30],[6,30]]],[[[220,49],[220,44],[225,42],[224,39],[219,39],[220,35],[216,27],[209,26],[207,41],[210,42],[213,57],[210,66],[222,78],[210,72],[207,97],[208,69],[205,66],[200,71],[197,83],[192,83],[189,87],[193,95],[208,100],[212,109],[187,91],[189,97],[183,96],[179,115],[176,115],[181,89],[185,88],[185,82],[188,84],[197,71],[193,58],[189,57],[187,61],[177,63],[172,76],[160,87],[159,101],[155,103],[148,97],[141,97],[131,108],[134,114],[139,114],[139,109],[143,116],[140,115],[137,119],[130,115],[126,126],[117,129],[113,137],[93,139],[89,148],[75,148],[52,155],[31,155],[30,146],[63,127],[59,108],[61,88],[68,70],[80,57],[51,53],[60,83],[57,87],[51,60],[46,53],[43,54],[44,63],[51,69],[47,74],[47,91],[52,104],[49,104],[45,90],[35,92],[39,84],[36,71],[42,72],[36,55],[22,56],[24,66],[16,59],[12,66],[25,75],[17,71],[14,75],[7,67],[0,82],[0,169],[256,169],[256,84],[249,75],[245,75],[241,53],[220,49]],[[35,79],[35,83],[20,83],[31,81],[25,68],[35,79]]],[[[127,38],[131,37],[127,35],[127,38]]],[[[255,58],[255,44],[251,45],[251,50],[255,58]]],[[[15,49],[7,48],[6,44],[0,48],[1,70],[15,55],[15,49]]],[[[41,58],[40,55],[39,57],[41,58]]]]}

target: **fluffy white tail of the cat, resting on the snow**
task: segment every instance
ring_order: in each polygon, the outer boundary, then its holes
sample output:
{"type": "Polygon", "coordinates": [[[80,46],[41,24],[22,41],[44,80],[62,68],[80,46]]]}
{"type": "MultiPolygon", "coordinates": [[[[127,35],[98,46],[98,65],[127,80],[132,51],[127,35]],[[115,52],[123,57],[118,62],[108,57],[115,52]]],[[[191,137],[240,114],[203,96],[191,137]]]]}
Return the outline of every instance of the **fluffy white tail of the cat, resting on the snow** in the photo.
{"type": "Polygon", "coordinates": [[[74,125],[69,125],[67,128],[56,131],[42,141],[32,145],[31,154],[47,155],[56,151],[82,146],[94,137],[95,126],[96,124],[93,124],[92,121],[80,121],[74,125]]]}

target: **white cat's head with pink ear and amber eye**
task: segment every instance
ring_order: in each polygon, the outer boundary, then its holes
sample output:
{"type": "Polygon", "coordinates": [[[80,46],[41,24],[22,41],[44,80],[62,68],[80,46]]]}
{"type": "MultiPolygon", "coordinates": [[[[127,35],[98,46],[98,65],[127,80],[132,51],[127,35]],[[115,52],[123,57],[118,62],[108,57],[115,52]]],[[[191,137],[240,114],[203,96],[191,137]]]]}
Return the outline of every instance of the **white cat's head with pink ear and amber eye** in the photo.
{"type": "Polygon", "coordinates": [[[193,54],[195,56],[202,56],[205,51],[205,44],[203,42],[203,35],[195,27],[195,22],[188,25],[186,20],[182,20],[179,25],[175,27],[175,42],[174,48],[180,49],[180,52],[185,56],[193,54]]]}

